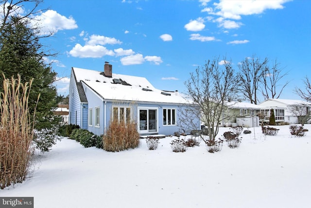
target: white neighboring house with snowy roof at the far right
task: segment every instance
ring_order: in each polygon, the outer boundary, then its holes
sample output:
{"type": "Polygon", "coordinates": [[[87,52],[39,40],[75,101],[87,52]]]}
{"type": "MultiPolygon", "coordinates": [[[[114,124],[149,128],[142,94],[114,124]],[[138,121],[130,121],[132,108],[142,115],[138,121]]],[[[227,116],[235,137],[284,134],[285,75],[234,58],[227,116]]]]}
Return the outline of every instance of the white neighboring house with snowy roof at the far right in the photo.
{"type": "MultiPolygon", "coordinates": [[[[269,122],[271,109],[274,110],[276,122],[298,124],[300,119],[310,114],[311,103],[302,100],[266,99],[259,104],[263,120],[269,122]]],[[[310,120],[308,121],[310,123],[310,120]]]]}

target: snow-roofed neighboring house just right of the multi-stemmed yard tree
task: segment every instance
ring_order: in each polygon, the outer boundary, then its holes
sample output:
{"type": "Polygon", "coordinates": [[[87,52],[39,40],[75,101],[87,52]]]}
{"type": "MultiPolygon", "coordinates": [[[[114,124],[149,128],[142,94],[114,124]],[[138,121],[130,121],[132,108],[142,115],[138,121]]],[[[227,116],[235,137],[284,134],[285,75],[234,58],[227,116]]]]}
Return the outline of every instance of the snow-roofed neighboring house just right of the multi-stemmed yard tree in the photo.
{"type": "Polygon", "coordinates": [[[227,119],[222,121],[222,126],[259,126],[257,114],[260,112],[260,106],[247,102],[228,102],[226,106],[228,109],[224,117],[227,119]]]}

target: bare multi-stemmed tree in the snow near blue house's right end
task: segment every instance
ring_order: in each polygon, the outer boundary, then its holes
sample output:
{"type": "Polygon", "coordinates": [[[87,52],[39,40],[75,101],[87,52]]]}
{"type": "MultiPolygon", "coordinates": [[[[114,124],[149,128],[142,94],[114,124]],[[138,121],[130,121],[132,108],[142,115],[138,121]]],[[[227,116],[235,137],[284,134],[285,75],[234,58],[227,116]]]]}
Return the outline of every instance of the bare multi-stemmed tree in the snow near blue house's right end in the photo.
{"type": "MultiPolygon", "coordinates": [[[[224,58],[225,59],[225,58],[224,58]]],[[[226,116],[228,100],[237,100],[236,76],[231,61],[224,60],[219,66],[219,57],[208,60],[190,79],[185,82],[187,94],[202,112],[201,120],[209,130],[209,140],[214,141],[219,131],[219,123],[226,116]]]]}

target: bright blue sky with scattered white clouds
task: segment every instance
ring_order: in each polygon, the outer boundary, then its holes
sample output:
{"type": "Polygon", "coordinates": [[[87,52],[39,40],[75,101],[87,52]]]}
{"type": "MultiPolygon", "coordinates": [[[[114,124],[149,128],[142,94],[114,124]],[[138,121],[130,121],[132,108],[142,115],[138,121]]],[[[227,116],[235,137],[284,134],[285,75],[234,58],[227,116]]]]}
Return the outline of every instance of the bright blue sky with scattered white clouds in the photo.
{"type": "MultiPolygon", "coordinates": [[[[53,70],[67,95],[71,67],[146,77],[156,88],[185,92],[206,60],[224,56],[277,60],[290,80],[280,98],[300,99],[311,68],[309,0],[45,0],[43,43],[58,52],[53,70]]],[[[50,58],[50,61],[52,59],[50,58]]],[[[282,84],[281,82],[279,84],[282,84]]],[[[261,100],[262,101],[262,100],[261,100]]]]}

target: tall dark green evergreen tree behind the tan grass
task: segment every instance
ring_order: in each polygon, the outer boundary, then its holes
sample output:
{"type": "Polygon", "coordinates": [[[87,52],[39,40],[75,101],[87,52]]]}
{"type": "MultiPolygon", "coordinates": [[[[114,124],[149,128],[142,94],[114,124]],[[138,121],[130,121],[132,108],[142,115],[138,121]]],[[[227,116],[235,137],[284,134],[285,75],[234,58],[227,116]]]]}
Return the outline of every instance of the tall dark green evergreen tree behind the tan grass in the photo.
{"type": "Polygon", "coordinates": [[[38,149],[48,151],[55,143],[55,128],[59,122],[51,111],[57,106],[56,88],[52,86],[56,73],[45,64],[43,57],[47,55],[39,42],[39,30],[31,26],[29,19],[12,16],[1,28],[0,81],[3,81],[2,74],[6,78],[19,74],[22,82],[34,79],[29,97],[30,113],[36,107],[34,141],[38,149]]]}

